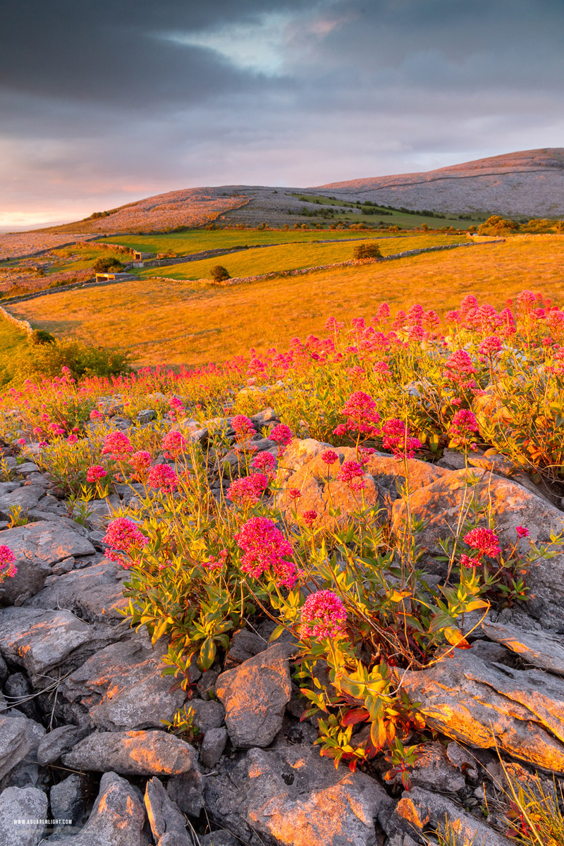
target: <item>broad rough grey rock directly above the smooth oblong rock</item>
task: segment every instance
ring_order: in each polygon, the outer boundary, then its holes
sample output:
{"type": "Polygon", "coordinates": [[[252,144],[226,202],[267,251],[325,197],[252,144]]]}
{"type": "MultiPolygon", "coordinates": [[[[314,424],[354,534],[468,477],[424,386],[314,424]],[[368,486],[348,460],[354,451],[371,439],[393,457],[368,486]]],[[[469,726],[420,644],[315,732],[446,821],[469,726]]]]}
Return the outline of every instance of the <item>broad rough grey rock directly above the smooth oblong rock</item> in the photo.
{"type": "MultiPolygon", "coordinates": [[[[183,705],[183,690],[171,691],[170,677],[162,677],[162,653],[166,645],[131,638],[97,651],[61,685],[63,696],[80,701],[98,728],[107,731],[162,728],[162,720],[183,705]]],[[[202,702],[202,707],[222,711],[219,702],[202,702]]],[[[216,721],[219,717],[216,717],[216,721]]],[[[221,723],[220,723],[221,725],[221,723]]]]}

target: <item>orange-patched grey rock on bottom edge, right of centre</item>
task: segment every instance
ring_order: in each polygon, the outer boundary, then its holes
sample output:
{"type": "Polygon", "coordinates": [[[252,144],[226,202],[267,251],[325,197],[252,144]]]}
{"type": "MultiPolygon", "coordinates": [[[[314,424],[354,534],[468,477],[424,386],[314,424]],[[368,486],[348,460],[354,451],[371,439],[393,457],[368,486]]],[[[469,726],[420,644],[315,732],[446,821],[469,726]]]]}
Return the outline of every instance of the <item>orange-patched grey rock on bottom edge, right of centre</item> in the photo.
{"type": "MultiPolygon", "coordinates": [[[[402,799],[386,824],[388,833],[400,831],[423,833],[434,831],[437,826],[444,830],[445,820],[457,832],[457,843],[473,843],[474,846],[510,846],[514,841],[494,831],[485,822],[478,820],[468,811],[446,796],[430,793],[423,788],[413,788],[402,794],[402,799]]],[[[450,843],[450,841],[449,841],[450,843]]]]}

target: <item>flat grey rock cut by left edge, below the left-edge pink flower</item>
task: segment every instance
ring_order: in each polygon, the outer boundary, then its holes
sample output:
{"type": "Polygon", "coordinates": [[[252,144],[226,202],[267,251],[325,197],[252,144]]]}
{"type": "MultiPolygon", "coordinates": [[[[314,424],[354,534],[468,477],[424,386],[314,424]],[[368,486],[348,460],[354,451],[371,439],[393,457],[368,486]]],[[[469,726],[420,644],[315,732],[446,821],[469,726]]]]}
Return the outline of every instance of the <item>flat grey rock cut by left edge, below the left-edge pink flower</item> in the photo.
{"type": "Polygon", "coordinates": [[[0,652],[25,667],[32,684],[52,667],[78,666],[115,637],[109,627],[89,625],[68,611],[0,608],[0,652]]]}

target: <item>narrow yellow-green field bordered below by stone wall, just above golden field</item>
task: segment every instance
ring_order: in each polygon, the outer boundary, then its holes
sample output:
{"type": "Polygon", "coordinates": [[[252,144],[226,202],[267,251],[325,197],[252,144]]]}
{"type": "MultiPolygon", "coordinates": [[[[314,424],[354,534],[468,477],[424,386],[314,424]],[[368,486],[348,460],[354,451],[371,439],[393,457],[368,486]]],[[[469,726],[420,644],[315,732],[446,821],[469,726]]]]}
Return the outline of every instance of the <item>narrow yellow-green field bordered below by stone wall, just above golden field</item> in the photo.
{"type": "MultiPolygon", "coordinates": [[[[211,276],[211,268],[217,264],[227,267],[232,277],[257,276],[261,273],[296,270],[301,267],[315,267],[348,261],[353,258],[357,243],[373,243],[360,240],[353,244],[281,244],[273,247],[261,247],[260,250],[244,250],[240,253],[222,255],[202,261],[187,261],[185,264],[165,267],[148,267],[140,271],[142,278],[167,277],[170,279],[206,279],[211,276]]],[[[442,244],[466,243],[464,235],[412,235],[400,238],[376,239],[382,255],[417,250],[420,247],[439,246],[442,244]]]]}

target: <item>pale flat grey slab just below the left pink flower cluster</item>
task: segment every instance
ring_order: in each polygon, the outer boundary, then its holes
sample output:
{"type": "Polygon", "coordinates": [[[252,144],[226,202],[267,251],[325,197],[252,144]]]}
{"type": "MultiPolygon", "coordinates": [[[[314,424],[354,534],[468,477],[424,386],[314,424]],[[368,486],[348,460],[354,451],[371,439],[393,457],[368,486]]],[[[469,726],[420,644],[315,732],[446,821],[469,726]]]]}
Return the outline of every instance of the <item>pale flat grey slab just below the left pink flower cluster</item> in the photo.
{"type": "Polygon", "coordinates": [[[48,581],[42,591],[25,602],[25,607],[62,608],[90,623],[122,623],[119,609],[127,605],[122,587],[127,578],[127,570],[103,558],[100,563],[74,568],[48,581]]]}

